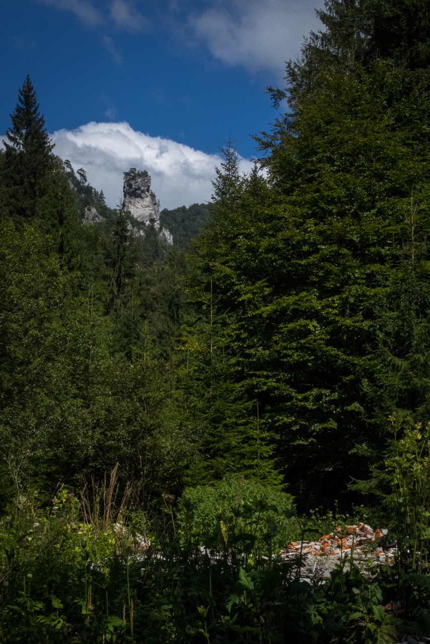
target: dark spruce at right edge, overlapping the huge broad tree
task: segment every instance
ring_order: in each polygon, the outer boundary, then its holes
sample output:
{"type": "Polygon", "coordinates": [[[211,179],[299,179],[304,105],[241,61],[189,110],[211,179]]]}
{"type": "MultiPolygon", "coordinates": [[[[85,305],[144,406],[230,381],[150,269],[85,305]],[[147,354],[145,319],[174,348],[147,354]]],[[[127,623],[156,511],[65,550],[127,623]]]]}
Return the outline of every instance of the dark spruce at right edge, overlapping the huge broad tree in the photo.
{"type": "Polygon", "coordinates": [[[411,200],[409,240],[398,251],[381,305],[376,309],[378,346],[373,382],[366,383],[380,428],[388,415],[430,420],[429,261],[427,206],[411,200]],[[423,224],[423,225],[420,225],[423,224]]]}

